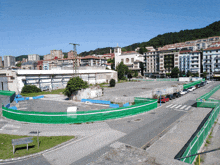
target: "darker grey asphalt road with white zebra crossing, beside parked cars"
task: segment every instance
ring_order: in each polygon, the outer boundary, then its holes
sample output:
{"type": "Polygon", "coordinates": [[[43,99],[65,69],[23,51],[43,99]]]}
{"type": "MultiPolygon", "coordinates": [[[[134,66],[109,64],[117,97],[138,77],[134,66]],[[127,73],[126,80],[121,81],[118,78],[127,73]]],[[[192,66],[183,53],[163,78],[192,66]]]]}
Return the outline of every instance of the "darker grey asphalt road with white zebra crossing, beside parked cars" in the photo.
{"type": "MultiPolygon", "coordinates": [[[[145,144],[150,142],[152,139],[157,139],[163,135],[166,131],[171,128],[172,124],[178,121],[180,117],[190,111],[191,106],[195,106],[195,99],[199,96],[210,91],[214,86],[219,85],[219,83],[208,84],[205,87],[199,88],[194,92],[184,95],[178,99],[171,100],[168,103],[162,104],[161,107],[146,112],[143,114],[135,115],[132,117],[126,117],[122,119],[107,120],[110,128],[123,133],[125,136],[121,137],[117,141],[122,143],[127,143],[135,147],[143,147],[145,144]],[[172,104],[172,106],[171,106],[172,104]],[[180,105],[189,107],[188,109],[174,108],[173,105],[180,105]]],[[[110,150],[110,144],[96,150],[84,156],[83,158],[72,162],[72,164],[88,164],[102,154],[110,150]]],[[[1,163],[0,163],[1,164],[1,163]]],[[[18,162],[8,162],[5,164],[50,164],[44,157],[38,156],[35,158],[29,158],[24,161],[18,162]]]]}

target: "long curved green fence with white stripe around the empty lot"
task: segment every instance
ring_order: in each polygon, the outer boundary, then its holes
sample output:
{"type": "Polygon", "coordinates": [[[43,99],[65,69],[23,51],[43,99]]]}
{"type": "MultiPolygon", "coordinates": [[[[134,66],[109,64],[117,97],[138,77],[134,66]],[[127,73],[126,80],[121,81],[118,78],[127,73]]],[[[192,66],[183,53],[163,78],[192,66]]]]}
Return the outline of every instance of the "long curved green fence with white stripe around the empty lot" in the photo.
{"type": "Polygon", "coordinates": [[[21,110],[12,110],[2,107],[2,114],[9,119],[48,124],[65,123],[84,123],[102,121],[107,119],[122,118],[138,113],[143,113],[157,108],[156,99],[135,98],[135,105],[129,107],[120,107],[112,109],[102,109],[94,111],[78,111],[76,113],[67,112],[30,112],[21,110]]]}

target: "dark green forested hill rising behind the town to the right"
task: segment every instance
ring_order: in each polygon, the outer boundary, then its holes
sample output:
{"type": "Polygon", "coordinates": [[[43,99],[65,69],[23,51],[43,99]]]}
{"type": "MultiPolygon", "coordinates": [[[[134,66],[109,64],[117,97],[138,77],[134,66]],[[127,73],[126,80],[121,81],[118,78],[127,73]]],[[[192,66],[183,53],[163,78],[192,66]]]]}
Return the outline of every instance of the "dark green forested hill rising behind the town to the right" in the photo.
{"type": "MultiPolygon", "coordinates": [[[[193,30],[181,30],[179,32],[170,32],[159,34],[158,36],[150,39],[147,42],[134,43],[129,46],[123,47],[124,51],[135,50],[137,47],[154,46],[155,48],[173,44],[178,42],[185,42],[189,40],[196,40],[200,38],[207,38],[212,36],[220,36],[220,21],[214,22],[204,28],[193,29],[193,30]]],[[[92,54],[105,54],[109,53],[112,47],[98,48],[95,50],[90,50],[88,52],[82,52],[80,56],[92,55],[92,54]]],[[[113,48],[112,48],[113,49],[113,48]]]]}

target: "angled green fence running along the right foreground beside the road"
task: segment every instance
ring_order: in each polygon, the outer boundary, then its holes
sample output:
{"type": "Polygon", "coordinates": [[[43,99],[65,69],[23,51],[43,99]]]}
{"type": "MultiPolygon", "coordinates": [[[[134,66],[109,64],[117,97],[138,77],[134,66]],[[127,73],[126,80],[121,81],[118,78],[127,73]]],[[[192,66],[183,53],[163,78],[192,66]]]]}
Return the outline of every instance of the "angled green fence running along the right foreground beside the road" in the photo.
{"type": "MultiPolygon", "coordinates": [[[[220,89],[220,85],[213,88],[210,92],[205,95],[199,97],[197,101],[197,107],[205,107],[205,108],[214,108],[210,113],[208,119],[200,129],[200,131],[195,135],[193,140],[189,143],[188,147],[184,151],[181,157],[186,157],[192,154],[198,153],[200,147],[202,146],[204,140],[206,139],[209,131],[211,130],[218,114],[220,111],[220,100],[209,99],[217,90],[220,89]]],[[[193,163],[196,156],[184,158],[181,161],[185,163],[193,163]]]]}

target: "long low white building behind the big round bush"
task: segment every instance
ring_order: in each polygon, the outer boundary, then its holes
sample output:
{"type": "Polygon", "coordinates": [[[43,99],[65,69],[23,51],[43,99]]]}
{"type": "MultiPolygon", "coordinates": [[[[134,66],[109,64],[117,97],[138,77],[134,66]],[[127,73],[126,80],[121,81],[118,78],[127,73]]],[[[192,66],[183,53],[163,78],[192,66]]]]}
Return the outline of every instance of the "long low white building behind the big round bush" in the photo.
{"type": "MultiPolygon", "coordinates": [[[[23,86],[35,85],[43,89],[63,89],[70,78],[75,76],[74,70],[2,70],[6,73],[8,90],[20,93],[23,86]]],[[[118,81],[117,72],[113,70],[77,70],[77,76],[89,84],[109,83],[111,79],[118,81]]]]}

